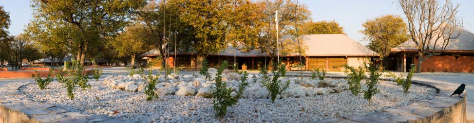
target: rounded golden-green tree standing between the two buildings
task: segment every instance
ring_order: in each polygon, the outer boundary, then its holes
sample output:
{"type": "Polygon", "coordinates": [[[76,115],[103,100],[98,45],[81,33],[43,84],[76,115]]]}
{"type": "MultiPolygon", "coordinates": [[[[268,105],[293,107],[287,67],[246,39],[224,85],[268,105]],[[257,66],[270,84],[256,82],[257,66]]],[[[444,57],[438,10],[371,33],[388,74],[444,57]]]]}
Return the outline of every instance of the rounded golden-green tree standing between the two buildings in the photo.
{"type": "MultiPolygon", "coordinates": [[[[368,48],[379,53],[380,59],[390,54],[392,47],[397,47],[408,40],[407,25],[403,18],[396,15],[386,15],[375,19],[367,20],[362,24],[364,30],[364,40],[370,41],[368,48]]],[[[382,62],[386,63],[386,61],[382,62]]]]}

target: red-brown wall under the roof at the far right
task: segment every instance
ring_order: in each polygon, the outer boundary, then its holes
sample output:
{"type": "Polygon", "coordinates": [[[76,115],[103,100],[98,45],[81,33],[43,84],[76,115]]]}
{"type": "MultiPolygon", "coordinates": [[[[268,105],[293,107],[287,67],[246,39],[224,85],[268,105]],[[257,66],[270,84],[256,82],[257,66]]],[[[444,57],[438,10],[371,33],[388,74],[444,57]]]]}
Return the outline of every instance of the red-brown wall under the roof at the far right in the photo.
{"type": "MultiPolygon", "coordinates": [[[[415,64],[418,64],[415,60],[415,64]]],[[[421,63],[422,72],[474,72],[474,56],[431,56],[421,63]]]]}

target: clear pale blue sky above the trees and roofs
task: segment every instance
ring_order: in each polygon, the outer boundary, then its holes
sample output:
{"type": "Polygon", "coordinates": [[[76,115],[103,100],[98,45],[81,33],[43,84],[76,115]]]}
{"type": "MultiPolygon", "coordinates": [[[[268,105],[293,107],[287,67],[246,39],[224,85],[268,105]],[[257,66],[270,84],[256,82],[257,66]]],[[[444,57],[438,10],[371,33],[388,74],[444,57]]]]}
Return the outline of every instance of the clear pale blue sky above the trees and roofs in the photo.
{"type": "MultiPolygon", "coordinates": [[[[355,41],[367,44],[363,41],[364,35],[359,31],[363,29],[362,23],[367,19],[374,19],[383,15],[399,15],[403,12],[396,0],[299,0],[312,12],[313,21],[335,20],[343,27],[344,32],[355,41]]],[[[441,0],[442,1],[442,0],[441,0]]],[[[464,22],[464,29],[474,31],[474,0],[453,0],[459,3],[458,16],[464,22]]],[[[0,0],[0,6],[10,13],[11,26],[10,35],[18,35],[23,32],[25,25],[29,23],[32,9],[29,0],[0,0]]]]}

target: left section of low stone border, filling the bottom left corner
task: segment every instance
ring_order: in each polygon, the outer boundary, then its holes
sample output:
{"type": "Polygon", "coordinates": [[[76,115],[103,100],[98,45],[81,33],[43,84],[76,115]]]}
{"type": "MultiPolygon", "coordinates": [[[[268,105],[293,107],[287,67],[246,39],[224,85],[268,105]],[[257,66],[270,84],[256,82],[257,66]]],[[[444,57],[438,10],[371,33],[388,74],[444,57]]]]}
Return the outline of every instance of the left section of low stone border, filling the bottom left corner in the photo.
{"type": "Polygon", "coordinates": [[[16,82],[0,87],[0,123],[136,123],[32,101],[19,92],[19,88],[30,83],[16,82]]]}

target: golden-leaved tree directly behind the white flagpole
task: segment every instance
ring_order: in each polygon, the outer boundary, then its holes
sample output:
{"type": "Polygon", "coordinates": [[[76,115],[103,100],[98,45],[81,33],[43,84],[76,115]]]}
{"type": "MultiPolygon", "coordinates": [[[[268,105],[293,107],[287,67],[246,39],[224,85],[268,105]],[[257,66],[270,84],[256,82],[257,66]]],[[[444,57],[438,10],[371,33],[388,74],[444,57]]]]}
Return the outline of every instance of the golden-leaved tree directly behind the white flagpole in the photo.
{"type": "MultiPolygon", "coordinates": [[[[276,45],[276,35],[292,35],[294,31],[295,21],[304,23],[309,20],[311,12],[307,9],[305,5],[296,5],[291,0],[261,0],[257,4],[262,8],[263,18],[261,22],[265,23],[264,26],[260,29],[258,35],[258,46],[256,49],[261,50],[262,53],[266,53],[270,56],[270,60],[273,60],[274,55],[277,54],[277,45],[276,45]],[[295,10],[296,8],[296,10],[295,10]],[[278,28],[279,32],[275,30],[275,11],[278,10],[278,28]],[[298,14],[295,14],[295,11],[298,14]]],[[[282,40],[279,40],[278,43],[282,44],[282,40]]],[[[285,47],[285,45],[280,45],[280,47],[285,47]]]]}

